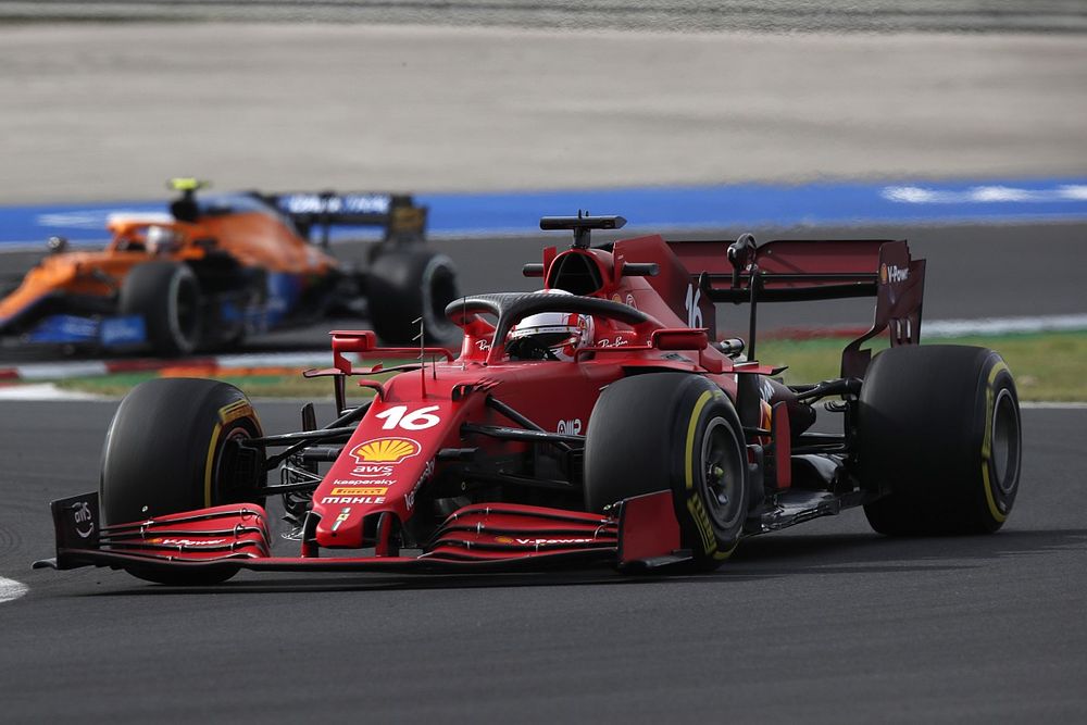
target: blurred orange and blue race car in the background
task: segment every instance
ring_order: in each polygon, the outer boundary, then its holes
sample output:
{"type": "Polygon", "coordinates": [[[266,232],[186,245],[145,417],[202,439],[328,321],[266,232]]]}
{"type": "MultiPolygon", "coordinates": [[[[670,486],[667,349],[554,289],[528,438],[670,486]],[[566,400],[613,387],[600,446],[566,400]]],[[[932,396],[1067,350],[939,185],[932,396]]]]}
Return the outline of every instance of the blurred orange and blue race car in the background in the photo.
{"type": "Polygon", "coordinates": [[[184,355],[324,316],[368,314],[391,342],[410,340],[421,316],[434,339],[455,338],[440,314],[457,296],[453,264],[423,245],[426,209],[411,197],[197,197],[200,182],[172,186],[180,196],[168,214],[111,218],[102,251],[67,251],[51,239],[52,253],[0,300],[0,335],[184,355]],[[327,253],[332,225],[384,228],[367,270],[327,253]]]}

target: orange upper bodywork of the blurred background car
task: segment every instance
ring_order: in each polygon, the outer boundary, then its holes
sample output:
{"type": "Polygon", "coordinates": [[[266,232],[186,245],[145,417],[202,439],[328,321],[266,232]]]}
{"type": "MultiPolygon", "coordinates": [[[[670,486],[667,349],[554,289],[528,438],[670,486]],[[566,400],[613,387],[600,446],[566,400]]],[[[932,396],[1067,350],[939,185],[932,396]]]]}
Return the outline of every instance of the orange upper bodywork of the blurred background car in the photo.
{"type": "Polygon", "coordinates": [[[225,253],[240,265],[273,273],[321,278],[337,267],[337,261],[298,236],[282,220],[261,212],[202,216],[198,222],[168,217],[114,218],[108,224],[112,240],[102,251],[62,252],[46,257],[30,270],[22,285],[0,300],[0,321],[52,292],[109,297],[125,275],[149,259],[198,261],[210,253],[225,253]],[[147,230],[173,232],[176,242],[152,254],[147,230]]]}

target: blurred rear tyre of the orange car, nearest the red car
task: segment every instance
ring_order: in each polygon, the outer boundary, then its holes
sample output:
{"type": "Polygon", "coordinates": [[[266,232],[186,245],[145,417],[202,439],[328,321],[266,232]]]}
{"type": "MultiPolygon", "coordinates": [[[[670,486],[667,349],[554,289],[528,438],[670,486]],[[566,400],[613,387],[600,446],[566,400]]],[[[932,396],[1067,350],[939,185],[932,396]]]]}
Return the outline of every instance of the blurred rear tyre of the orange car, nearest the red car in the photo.
{"type": "Polygon", "coordinates": [[[422,247],[389,250],[367,274],[370,317],[387,343],[417,343],[422,317],[426,342],[449,345],[460,328],[446,318],[446,305],[460,296],[457,270],[445,254],[422,247]]]}

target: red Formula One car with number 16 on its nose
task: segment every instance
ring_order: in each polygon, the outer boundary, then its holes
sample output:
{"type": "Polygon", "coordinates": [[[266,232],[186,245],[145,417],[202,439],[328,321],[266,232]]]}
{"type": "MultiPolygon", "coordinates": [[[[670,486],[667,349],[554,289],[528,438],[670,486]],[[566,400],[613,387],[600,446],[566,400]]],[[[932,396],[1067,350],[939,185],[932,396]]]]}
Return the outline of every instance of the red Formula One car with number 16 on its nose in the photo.
{"type": "Polygon", "coordinates": [[[573,229],[572,248],[525,266],[540,292],[451,303],[455,359],[333,333],[333,367],[307,373],[335,385],[324,427],[307,405],[300,430],[266,435],[223,383],[137,387],[100,490],[53,502],[57,558],[39,564],[172,584],[241,568],[711,570],[745,537],[850,507],[887,535],[1003,524],[1021,460],[1011,373],[990,350],[917,345],[925,262],[904,241],[589,245],[622,224],[545,217],[573,229]],[[840,377],[787,387],[753,360],[760,304],[855,296],[876,298],[875,320],[840,377]],[[748,340],[713,341],[715,302],[750,305],[748,340]],[[883,333],[873,358],[862,346],[883,333]],[[418,360],[357,367],[350,354],[418,360]],[[373,399],[348,405],[349,382],[373,399]],[[819,401],[840,433],[809,429],[819,401]],[[272,552],[268,497],[296,555],[272,552]]]}

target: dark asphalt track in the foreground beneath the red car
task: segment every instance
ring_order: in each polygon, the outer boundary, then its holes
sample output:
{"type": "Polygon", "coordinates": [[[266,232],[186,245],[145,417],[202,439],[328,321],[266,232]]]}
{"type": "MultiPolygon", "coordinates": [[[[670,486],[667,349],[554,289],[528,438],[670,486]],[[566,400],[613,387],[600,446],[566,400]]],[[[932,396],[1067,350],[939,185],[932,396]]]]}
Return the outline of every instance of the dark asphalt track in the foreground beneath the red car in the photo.
{"type": "MultiPolygon", "coordinates": [[[[96,486],[114,403],[0,402],[3,722],[1047,722],[1087,718],[1087,410],[1026,410],[995,536],[889,540],[858,511],[719,573],[243,574],[214,589],[30,571],[96,486]]],[[[297,405],[259,403],[266,427],[297,405]]],[[[324,420],[329,411],[322,410],[324,420]]]]}

